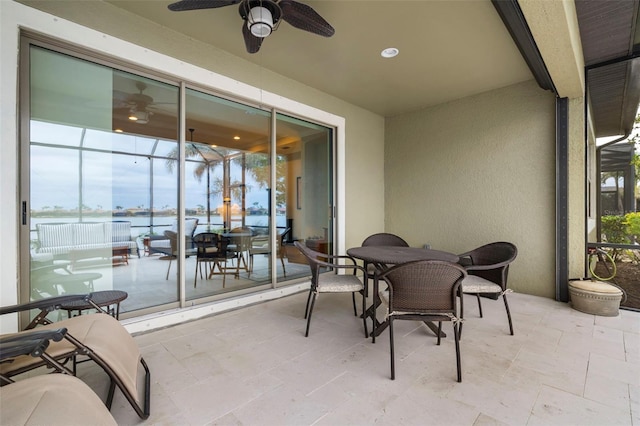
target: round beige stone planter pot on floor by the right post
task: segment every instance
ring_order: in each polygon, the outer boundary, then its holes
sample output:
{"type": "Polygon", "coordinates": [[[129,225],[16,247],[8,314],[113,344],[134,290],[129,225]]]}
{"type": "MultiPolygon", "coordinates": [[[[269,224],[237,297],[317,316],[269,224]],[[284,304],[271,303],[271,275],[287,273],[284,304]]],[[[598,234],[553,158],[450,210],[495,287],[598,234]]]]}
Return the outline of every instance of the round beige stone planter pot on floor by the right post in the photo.
{"type": "Polygon", "coordinates": [[[618,315],[622,291],[602,281],[569,281],[573,309],[586,314],[615,317],[618,315]]]}

